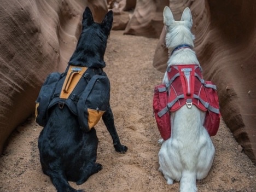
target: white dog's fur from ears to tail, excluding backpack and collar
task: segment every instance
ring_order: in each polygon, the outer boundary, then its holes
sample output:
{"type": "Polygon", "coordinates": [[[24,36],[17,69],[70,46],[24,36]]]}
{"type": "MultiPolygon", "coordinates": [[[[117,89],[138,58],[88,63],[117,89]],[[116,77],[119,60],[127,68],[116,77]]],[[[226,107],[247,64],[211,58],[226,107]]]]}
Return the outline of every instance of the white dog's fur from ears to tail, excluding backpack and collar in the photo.
{"type": "MultiPolygon", "coordinates": [[[[170,8],[164,9],[166,25],[166,46],[171,51],[176,46],[188,44],[194,48],[193,24],[189,8],[185,8],[181,21],[174,21],[170,8]]],[[[191,49],[174,51],[168,59],[168,66],[195,63],[199,65],[196,54],[191,49]]],[[[165,73],[163,83],[168,82],[165,73]]],[[[196,179],[203,179],[211,169],[215,149],[203,123],[205,112],[195,106],[186,105],[171,113],[171,138],[159,140],[159,171],[168,184],[180,181],[179,191],[195,192],[196,179]]]]}

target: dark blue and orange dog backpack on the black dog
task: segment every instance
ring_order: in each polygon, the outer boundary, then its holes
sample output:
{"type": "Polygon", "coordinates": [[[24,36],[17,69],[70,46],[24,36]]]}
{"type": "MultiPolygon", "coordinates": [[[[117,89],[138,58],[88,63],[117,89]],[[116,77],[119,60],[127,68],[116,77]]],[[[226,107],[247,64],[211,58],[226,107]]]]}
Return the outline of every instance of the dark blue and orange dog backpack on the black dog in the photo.
{"type": "Polygon", "coordinates": [[[39,106],[44,108],[37,108],[37,114],[44,113],[46,119],[42,124],[37,115],[36,122],[41,126],[45,126],[52,107],[58,105],[62,109],[66,105],[74,115],[77,115],[80,128],[90,131],[109,107],[110,83],[102,69],[68,66],[66,72],[55,82],[48,102],[42,103],[40,98],[45,90],[45,84],[47,83],[44,83],[37,98],[39,106]]]}

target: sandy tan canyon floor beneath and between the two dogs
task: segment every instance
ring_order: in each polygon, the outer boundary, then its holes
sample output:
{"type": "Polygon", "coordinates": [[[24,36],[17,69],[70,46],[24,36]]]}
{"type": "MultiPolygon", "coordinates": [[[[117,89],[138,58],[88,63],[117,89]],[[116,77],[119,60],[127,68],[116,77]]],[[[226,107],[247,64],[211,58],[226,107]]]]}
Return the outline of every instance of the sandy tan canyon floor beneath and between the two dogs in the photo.
{"type": "MultiPolygon", "coordinates": [[[[86,191],[178,191],[179,183],[167,185],[158,171],[160,133],[153,117],[152,98],[163,74],[152,66],[158,39],[124,36],[112,31],[105,61],[112,86],[115,125],[126,154],[115,152],[106,127],[96,126],[99,138],[97,162],[103,170],[76,189],[86,191]]],[[[42,127],[31,117],[10,136],[0,159],[0,191],[56,191],[39,163],[37,139],[42,127]]],[[[212,137],[216,155],[206,179],[197,181],[199,191],[256,191],[256,166],[242,152],[223,123],[212,137]]]]}

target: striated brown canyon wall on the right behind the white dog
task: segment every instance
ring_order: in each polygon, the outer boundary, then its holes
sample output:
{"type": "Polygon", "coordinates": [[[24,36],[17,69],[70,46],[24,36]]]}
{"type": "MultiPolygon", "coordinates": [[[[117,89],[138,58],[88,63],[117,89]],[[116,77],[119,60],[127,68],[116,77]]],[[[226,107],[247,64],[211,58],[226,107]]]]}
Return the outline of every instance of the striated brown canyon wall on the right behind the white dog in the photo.
{"type": "MultiPolygon", "coordinates": [[[[256,1],[170,1],[170,7],[178,20],[190,7],[204,78],[217,85],[222,117],[256,163],[256,1]]],[[[168,57],[164,36],[163,28],[153,61],[162,72],[168,57]]]]}

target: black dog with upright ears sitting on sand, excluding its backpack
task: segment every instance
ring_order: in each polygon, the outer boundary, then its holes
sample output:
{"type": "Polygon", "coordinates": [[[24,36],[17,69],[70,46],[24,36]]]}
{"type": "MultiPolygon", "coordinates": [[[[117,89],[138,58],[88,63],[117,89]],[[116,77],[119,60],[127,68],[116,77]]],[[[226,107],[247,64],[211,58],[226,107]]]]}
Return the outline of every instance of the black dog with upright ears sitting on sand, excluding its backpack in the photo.
{"type": "MultiPolygon", "coordinates": [[[[102,23],[97,24],[90,9],[86,8],[82,33],[68,64],[89,67],[104,73],[102,68],[106,64],[103,57],[112,22],[111,10],[102,23]]],[[[113,139],[115,150],[125,153],[127,147],[120,143],[110,106],[102,119],[113,139]]],[[[77,116],[68,107],[60,109],[56,105],[50,110],[48,122],[38,139],[38,148],[43,172],[51,178],[57,191],[83,191],[73,189],[68,181],[83,184],[92,174],[102,169],[102,165],[96,163],[97,146],[96,130],[92,128],[85,132],[80,129],[77,116]]]]}

